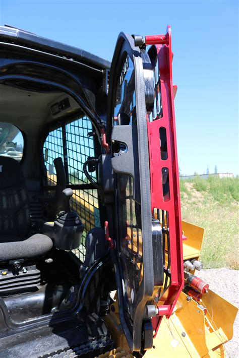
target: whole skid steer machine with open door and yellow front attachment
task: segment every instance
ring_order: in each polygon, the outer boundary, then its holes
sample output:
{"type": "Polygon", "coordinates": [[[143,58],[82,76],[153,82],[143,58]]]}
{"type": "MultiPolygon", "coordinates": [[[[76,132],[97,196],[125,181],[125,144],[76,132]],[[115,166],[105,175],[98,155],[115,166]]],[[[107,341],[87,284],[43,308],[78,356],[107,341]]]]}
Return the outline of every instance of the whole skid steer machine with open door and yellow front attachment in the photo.
{"type": "Polygon", "coordinates": [[[0,356],[224,356],[181,220],[171,31],[112,63],[0,27],[0,356]]]}

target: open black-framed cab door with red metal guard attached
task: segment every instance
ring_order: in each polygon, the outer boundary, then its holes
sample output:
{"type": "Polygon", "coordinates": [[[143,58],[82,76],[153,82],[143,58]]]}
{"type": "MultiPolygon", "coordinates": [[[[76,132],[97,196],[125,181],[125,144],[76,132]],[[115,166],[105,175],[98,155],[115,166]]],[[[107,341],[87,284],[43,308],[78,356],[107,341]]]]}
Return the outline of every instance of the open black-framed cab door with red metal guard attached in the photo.
{"type": "Polygon", "coordinates": [[[152,347],[184,284],[171,63],[168,27],[163,36],[121,33],[110,68],[106,141],[115,201],[106,238],[132,351],[152,347]]]}

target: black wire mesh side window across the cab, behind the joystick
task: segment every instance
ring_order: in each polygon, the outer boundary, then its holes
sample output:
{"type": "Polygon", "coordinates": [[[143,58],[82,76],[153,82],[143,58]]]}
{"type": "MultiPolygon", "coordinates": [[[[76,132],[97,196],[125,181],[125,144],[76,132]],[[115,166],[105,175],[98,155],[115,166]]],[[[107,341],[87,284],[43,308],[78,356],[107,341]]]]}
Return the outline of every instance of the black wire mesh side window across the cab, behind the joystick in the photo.
{"type": "MultiPolygon", "coordinates": [[[[45,166],[47,170],[48,185],[56,185],[56,172],[53,160],[61,157],[64,162],[64,144],[67,148],[67,164],[69,185],[79,185],[79,189],[73,190],[71,209],[76,211],[85,229],[82,235],[80,247],[73,252],[82,260],[85,259],[85,240],[87,232],[93,227],[100,226],[98,193],[96,189],[82,190],[80,185],[89,184],[84,172],[83,164],[88,157],[94,156],[94,141],[88,137],[92,132],[92,124],[88,117],[79,118],[65,126],[66,136],[63,136],[63,127],[50,132],[44,143],[45,166]],[[64,143],[65,141],[65,143],[64,143]],[[46,154],[47,153],[47,154],[46,154]]],[[[96,173],[92,173],[96,180],[96,173]]]]}

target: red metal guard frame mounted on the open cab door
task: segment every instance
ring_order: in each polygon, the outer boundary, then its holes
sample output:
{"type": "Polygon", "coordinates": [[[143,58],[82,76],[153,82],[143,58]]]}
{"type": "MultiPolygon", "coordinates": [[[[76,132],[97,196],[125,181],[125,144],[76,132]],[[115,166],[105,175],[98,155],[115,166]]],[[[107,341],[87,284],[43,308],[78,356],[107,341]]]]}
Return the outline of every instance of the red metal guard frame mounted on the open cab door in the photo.
{"type": "MultiPolygon", "coordinates": [[[[146,36],[147,43],[157,43],[155,45],[158,58],[158,69],[160,74],[161,86],[161,105],[162,117],[156,118],[148,125],[148,140],[150,153],[150,177],[151,177],[151,209],[154,208],[166,210],[169,215],[169,241],[170,241],[170,275],[171,283],[168,287],[167,299],[164,305],[166,317],[169,318],[176,304],[178,296],[184,286],[184,268],[183,268],[183,245],[182,245],[182,227],[181,227],[181,204],[180,204],[180,186],[178,177],[176,130],[174,116],[174,94],[176,87],[172,84],[172,57],[171,50],[171,29],[167,27],[166,35],[146,36]],[[167,154],[166,160],[160,156],[160,137],[159,129],[166,129],[167,154]],[[163,201],[162,191],[162,168],[168,168],[170,199],[163,201]],[[168,310],[168,305],[170,309],[168,310]]],[[[163,306],[164,306],[163,305],[163,306]]],[[[160,307],[163,312],[162,306],[160,307]]],[[[162,317],[152,319],[154,330],[157,333],[162,317]]]]}

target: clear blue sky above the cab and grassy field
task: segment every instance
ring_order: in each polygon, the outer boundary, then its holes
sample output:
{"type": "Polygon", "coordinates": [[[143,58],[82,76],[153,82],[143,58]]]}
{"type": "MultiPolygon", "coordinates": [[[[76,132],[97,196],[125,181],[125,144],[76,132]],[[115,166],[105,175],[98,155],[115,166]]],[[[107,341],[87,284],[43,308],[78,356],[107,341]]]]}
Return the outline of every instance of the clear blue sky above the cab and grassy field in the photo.
{"type": "Polygon", "coordinates": [[[237,1],[0,0],[0,23],[111,61],[118,33],[172,28],[178,161],[184,174],[238,174],[237,1]]]}

